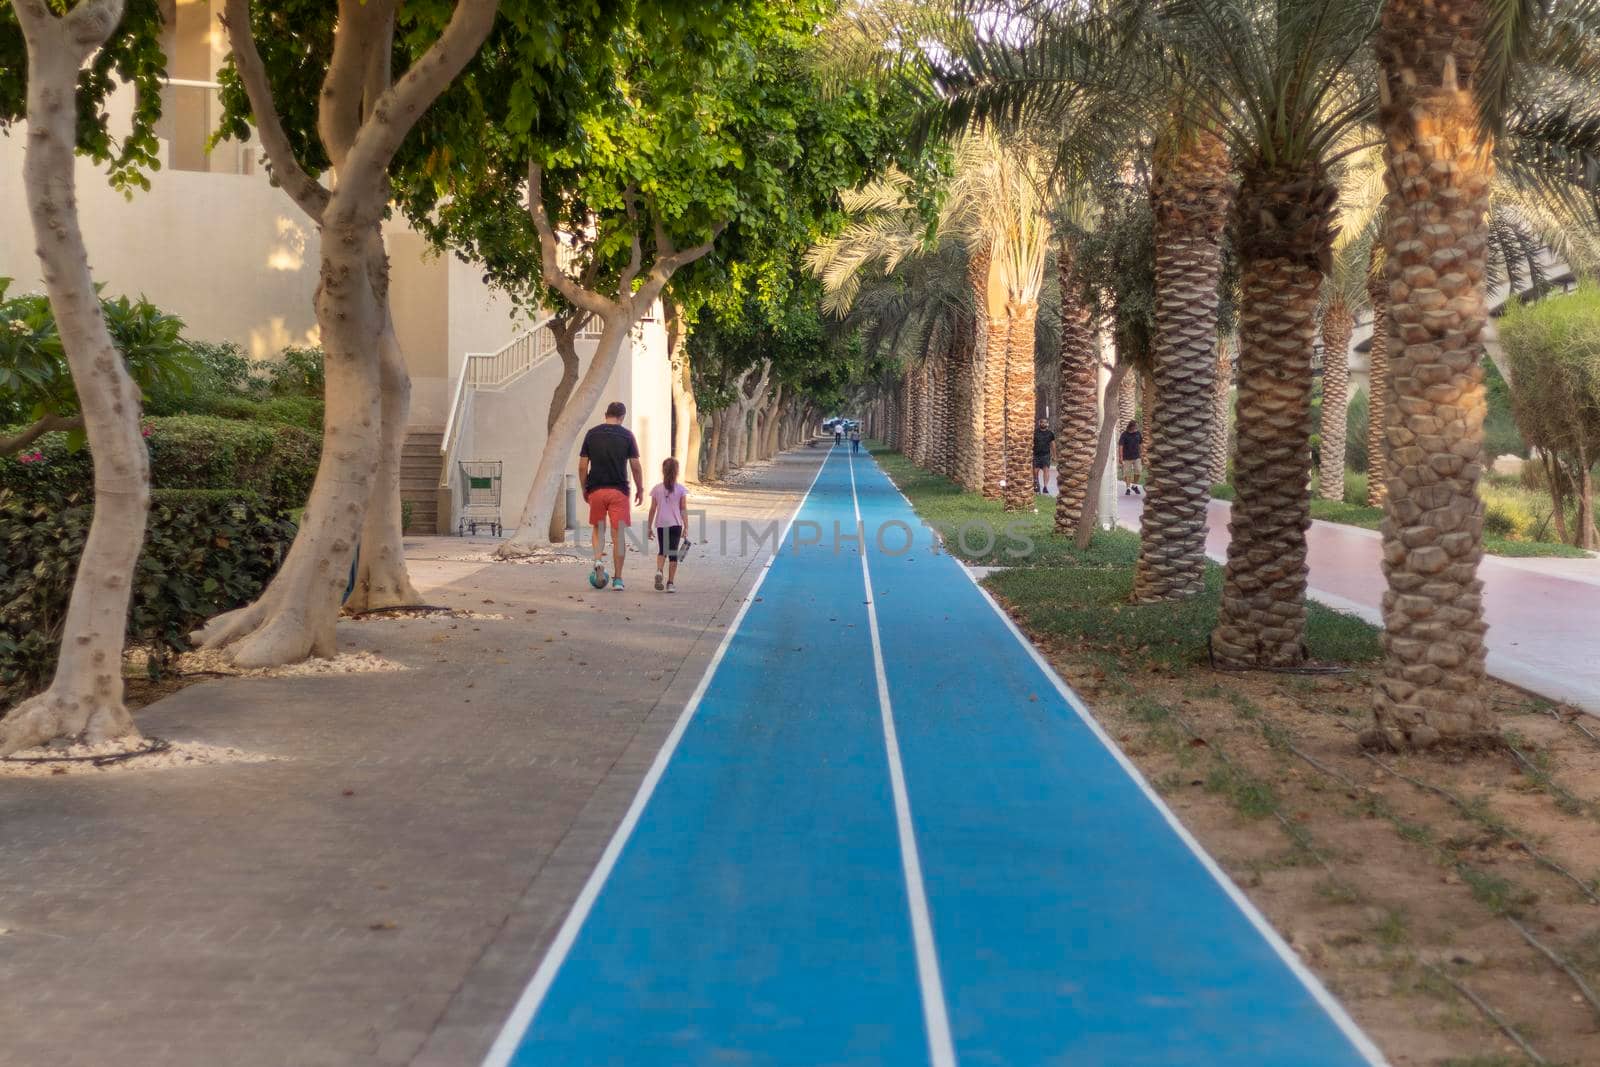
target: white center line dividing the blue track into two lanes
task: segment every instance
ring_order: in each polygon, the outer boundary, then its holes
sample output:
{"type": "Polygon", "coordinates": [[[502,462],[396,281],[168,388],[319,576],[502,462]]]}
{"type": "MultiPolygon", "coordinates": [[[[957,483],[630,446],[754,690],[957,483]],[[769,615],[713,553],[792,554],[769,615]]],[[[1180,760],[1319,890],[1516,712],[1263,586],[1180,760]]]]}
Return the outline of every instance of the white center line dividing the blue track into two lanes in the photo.
{"type": "Polygon", "coordinates": [[[878,673],[878,712],[883,718],[883,747],[890,757],[890,787],[894,793],[894,824],[899,830],[901,865],[906,869],[906,897],[910,904],[910,934],[912,945],[917,949],[917,981],[922,985],[922,1016],[928,1027],[928,1054],[933,1067],[955,1067],[950,1011],[944,1003],[944,981],[939,977],[939,952],[933,944],[928,893],[922,883],[922,859],[917,854],[917,835],[910,824],[906,768],[901,763],[899,736],[894,731],[894,707],[890,704],[890,678],[883,670],[878,608],[872,595],[872,569],[867,566],[867,533],[861,523],[861,499],[856,496],[856,461],[848,453],[846,459],[850,461],[850,501],[856,509],[856,533],[861,536],[861,582],[867,590],[867,627],[872,633],[872,665],[878,673]]]}

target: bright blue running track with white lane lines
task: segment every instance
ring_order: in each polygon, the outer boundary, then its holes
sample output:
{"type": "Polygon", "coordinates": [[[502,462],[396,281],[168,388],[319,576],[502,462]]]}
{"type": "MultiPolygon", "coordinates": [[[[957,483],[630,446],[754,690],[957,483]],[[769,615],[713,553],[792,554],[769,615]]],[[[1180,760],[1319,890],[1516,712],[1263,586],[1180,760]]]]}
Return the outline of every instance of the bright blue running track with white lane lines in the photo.
{"type": "Polygon", "coordinates": [[[843,448],[485,1061],[1381,1062],[843,448]]]}

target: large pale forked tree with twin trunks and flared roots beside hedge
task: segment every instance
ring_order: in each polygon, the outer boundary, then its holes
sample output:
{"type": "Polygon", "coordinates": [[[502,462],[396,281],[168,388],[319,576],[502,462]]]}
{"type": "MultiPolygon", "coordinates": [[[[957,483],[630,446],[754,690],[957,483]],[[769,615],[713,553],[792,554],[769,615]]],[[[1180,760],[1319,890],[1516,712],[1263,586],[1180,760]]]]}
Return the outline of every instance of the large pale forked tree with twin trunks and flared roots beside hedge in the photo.
{"type": "Polygon", "coordinates": [[[259,136],[274,182],[318,227],[325,442],[294,545],[251,605],[195,633],[242,665],[334,653],[355,545],[357,608],[414,603],[400,542],[410,378],[389,309],[382,221],[411,131],[494,26],[498,0],[229,0],[219,136],[259,136]],[[323,184],[320,176],[336,178],[323,184]]]}

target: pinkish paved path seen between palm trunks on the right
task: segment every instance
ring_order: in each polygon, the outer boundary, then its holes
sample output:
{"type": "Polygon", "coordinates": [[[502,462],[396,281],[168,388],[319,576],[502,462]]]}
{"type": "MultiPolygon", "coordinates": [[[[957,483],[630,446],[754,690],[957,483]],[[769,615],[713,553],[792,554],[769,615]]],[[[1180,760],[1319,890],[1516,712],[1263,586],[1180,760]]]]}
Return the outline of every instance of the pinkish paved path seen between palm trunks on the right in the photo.
{"type": "MultiPolygon", "coordinates": [[[[1144,498],[1118,496],[1117,522],[1139,528],[1144,498]]],[[[1232,506],[1211,501],[1206,553],[1227,558],[1232,506]]],[[[1382,625],[1382,542],[1376,531],[1314,522],[1310,592],[1330,608],[1382,625]]],[[[1488,669],[1554,701],[1600,715],[1600,560],[1522,560],[1483,557],[1483,611],[1488,616],[1488,669]]]]}

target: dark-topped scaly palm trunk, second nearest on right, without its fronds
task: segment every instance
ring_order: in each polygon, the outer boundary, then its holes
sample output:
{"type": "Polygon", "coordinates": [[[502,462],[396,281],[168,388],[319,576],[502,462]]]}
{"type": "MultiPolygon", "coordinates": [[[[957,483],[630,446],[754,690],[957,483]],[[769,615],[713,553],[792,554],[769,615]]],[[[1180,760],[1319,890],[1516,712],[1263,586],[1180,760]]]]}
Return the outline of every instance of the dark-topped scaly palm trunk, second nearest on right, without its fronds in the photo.
{"type": "Polygon", "coordinates": [[[1230,667],[1306,661],[1310,360],[1336,195],[1312,168],[1246,171],[1240,190],[1238,454],[1211,635],[1230,667]]]}

